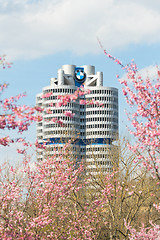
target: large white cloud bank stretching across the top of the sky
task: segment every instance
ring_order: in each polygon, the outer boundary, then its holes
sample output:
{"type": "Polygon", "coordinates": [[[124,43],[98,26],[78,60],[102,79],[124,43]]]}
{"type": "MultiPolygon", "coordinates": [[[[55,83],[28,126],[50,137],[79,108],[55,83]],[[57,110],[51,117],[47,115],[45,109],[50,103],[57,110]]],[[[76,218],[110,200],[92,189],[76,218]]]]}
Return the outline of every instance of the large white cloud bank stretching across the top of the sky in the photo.
{"type": "Polygon", "coordinates": [[[71,50],[160,42],[160,3],[128,0],[0,0],[0,52],[31,59],[71,50]]]}

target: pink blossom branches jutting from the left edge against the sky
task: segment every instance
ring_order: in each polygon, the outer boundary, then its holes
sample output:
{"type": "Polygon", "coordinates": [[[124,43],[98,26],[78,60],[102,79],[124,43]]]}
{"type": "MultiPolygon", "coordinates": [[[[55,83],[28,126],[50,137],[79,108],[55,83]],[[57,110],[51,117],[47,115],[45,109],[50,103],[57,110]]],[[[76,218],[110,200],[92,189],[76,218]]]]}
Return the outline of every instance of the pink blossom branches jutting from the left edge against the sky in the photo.
{"type": "MultiPolygon", "coordinates": [[[[3,55],[0,57],[0,65],[5,69],[10,68],[12,63],[7,62],[5,55],[3,55]]],[[[3,133],[5,130],[17,130],[21,134],[28,130],[32,122],[41,120],[35,116],[35,112],[39,109],[18,104],[18,101],[25,97],[25,94],[3,98],[3,93],[7,88],[8,84],[0,84],[0,129],[3,130],[3,133]]],[[[3,146],[9,146],[13,142],[22,142],[22,139],[20,137],[13,139],[8,135],[0,138],[0,145],[3,146]]]]}

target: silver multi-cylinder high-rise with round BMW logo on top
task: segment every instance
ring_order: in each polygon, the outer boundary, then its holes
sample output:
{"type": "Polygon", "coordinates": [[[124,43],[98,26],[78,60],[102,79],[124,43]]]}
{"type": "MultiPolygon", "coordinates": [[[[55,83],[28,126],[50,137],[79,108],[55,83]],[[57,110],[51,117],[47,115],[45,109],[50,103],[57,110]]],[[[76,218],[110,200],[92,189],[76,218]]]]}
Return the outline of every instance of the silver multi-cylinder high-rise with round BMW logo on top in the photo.
{"type": "Polygon", "coordinates": [[[52,156],[55,149],[58,151],[63,147],[64,140],[73,139],[73,155],[77,161],[85,160],[88,173],[96,173],[97,166],[102,172],[112,171],[108,149],[112,148],[118,134],[118,89],[103,86],[102,72],[95,73],[94,66],[63,65],[57,78],[51,78],[50,85],[37,94],[36,104],[44,108],[43,120],[37,123],[38,142],[48,142],[48,150],[39,151],[38,160],[45,155],[52,156]],[[55,106],[59,95],[71,95],[82,84],[89,90],[88,94],[66,106],[55,106]],[[42,97],[50,92],[51,96],[42,97]],[[103,106],[81,104],[81,100],[91,102],[92,99],[103,103],[103,106]],[[64,116],[65,111],[71,111],[74,117],[64,116]],[[52,118],[62,120],[63,125],[50,122],[52,118]]]}

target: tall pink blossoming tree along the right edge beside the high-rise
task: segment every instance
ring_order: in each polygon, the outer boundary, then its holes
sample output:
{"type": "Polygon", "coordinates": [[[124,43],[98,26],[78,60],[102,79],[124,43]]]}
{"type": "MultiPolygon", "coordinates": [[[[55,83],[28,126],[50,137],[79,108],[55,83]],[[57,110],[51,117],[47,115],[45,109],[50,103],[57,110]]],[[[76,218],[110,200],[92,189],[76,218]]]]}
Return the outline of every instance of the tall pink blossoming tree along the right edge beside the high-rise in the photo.
{"type": "MultiPolygon", "coordinates": [[[[143,78],[134,61],[123,65],[119,59],[107,53],[99,39],[98,42],[104,54],[126,72],[125,79],[120,79],[118,75],[117,78],[123,85],[122,91],[127,104],[133,109],[132,114],[127,113],[127,115],[132,124],[132,130],[129,132],[136,141],[134,145],[128,144],[128,148],[137,156],[134,163],[139,164],[140,168],[145,167],[152,178],[157,180],[158,187],[160,180],[160,70],[157,66],[154,79],[143,78]]],[[[159,205],[154,202],[152,205],[159,210],[159,205]]],[[[160,239],[160,227],[157,224],[151,223],[148,228],[142,225],[140,231],[130,225],[126,226],[131,233],[129,239],[160,239]]]]}

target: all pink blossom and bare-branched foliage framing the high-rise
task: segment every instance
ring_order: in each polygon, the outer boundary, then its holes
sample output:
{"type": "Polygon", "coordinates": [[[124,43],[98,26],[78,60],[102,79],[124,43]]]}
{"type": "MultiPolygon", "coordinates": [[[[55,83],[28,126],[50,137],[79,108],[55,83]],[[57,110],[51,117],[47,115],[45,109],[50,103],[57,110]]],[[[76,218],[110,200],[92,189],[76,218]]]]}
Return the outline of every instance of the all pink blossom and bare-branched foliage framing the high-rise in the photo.
{"type": "MultiPolygon", "coordinates": [[[[159,74],[157,71],[155,84],[149,79],[143,81],[134,63],[124,67],[119,60],[108,57],[127,71],[128,82],[120,81],[128,104],[136,107],[129,116],[135,129],[130,133],[137,138],[136,145],[131,146],[123,139],[118,154],[115,151],[110,154],[113,172],[103,174],[97,166],[96,175],[86,175],[83,162],[76,167],[70,142],[58,156],[55,150],[52,157],[34,165],[27,151],[19,150],[24,154],[21,168],[7,164],[0,168],[1,239],[159,238],[159,74]],[[131,81],[132,88],[128,84],[131,81]]],[[[1,93],[6,87],[1,85],[1,93]]],[[[59,96],[57,107],[83,94],[87,92],[82,87],[72,95],[59,96]]],[[[20,97],[1,100],[2,130],[17,129],[21,133],[32,121],[41,121],[44,109],[17,106],[20,97]]],[[[71,112],[64,114],[73,117],[71,112]]],[[[51,121],[63,124],[55,118],[51,121]]],[[[6,137],[1,144],[13,141],[6,137]]],[[[28,147],[21,138],[16,141],[28,147]]],[[[38,142],[35,145],[46,151],[45,145],[38,142]]]]}

